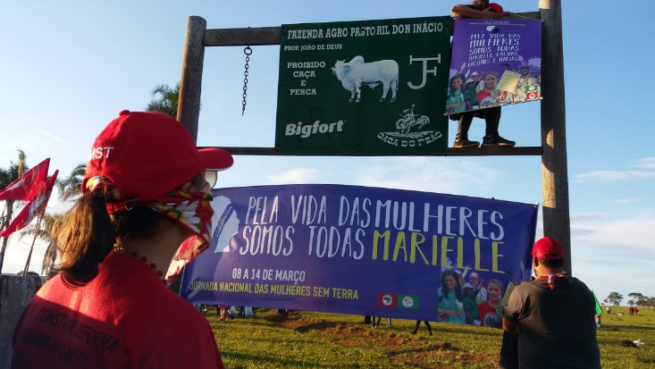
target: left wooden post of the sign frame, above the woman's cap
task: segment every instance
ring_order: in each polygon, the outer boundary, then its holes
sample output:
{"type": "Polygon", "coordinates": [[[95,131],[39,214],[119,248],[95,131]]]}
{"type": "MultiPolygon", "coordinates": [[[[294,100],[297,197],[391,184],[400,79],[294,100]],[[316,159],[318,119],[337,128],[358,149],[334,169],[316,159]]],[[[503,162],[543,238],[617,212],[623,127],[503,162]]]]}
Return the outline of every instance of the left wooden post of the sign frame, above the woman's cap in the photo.
{"type": "Polygon", "coordinates": [[[178,116],[194,141],[197,141],[197,121],[200,116],[200,89],[203,80],[203,61],[205,46],[203,38],[207,22],[197,16],[187,20],[187,37],[184,40],[184,56],[182,57],[182,76],[180,80],[180,99],[178,100],[178,116]]]}

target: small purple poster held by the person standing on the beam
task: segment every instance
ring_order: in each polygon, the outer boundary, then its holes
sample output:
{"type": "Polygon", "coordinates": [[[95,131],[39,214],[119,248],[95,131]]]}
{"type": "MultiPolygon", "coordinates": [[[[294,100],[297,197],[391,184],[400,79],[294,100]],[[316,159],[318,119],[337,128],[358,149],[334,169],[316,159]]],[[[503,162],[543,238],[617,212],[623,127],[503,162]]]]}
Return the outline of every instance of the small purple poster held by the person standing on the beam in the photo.
{"type": "Polygon", "coordinates": [[[455,20],[446,114],[542,99],[542,21],[455,20]]]}

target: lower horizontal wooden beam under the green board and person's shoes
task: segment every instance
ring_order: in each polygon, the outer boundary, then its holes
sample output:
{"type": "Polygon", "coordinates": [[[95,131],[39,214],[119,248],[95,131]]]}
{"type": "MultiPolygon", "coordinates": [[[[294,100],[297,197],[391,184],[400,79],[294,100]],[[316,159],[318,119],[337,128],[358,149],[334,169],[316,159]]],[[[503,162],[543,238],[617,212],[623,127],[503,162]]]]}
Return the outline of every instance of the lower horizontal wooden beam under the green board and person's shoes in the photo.
{"type": "MultiPolygon", "coordinates": [[[[207,148],[207,147],[198,147],[207,148]]],[[[274,147],[219,147],[228,151],[231,155],[254,155],[254,156],[437,156],[427,154],[312,154],[298,155],[297,153],[279,153],[274,147]]],[[[453,148],[446,149],[446,156],[519,156],[519,155],[542,155],[542,147],[479,147],[479,148],[453,148]]],[[[441,155],[439,155],[441,156],[441,155]]]]}

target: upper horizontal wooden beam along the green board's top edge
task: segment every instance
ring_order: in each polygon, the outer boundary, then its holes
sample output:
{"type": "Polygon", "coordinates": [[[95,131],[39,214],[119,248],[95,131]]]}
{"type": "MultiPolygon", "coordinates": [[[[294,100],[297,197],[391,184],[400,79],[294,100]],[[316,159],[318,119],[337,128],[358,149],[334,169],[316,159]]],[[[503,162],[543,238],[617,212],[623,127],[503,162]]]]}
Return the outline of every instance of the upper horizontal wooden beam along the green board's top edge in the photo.
{"type": "MultiPolygon", "coordinates": [[[[539,12],[514,13],[503,19],[540,19],[539,12]]],[[[454,21],[454,20],[453,20],[454,21]]],[[[450,27],[452,32],[453,27],[450,27]]],[[[263,46],[280,45],[281,27],[259,27],[247,29],[206,29],[204,46],[263,46]]]]}

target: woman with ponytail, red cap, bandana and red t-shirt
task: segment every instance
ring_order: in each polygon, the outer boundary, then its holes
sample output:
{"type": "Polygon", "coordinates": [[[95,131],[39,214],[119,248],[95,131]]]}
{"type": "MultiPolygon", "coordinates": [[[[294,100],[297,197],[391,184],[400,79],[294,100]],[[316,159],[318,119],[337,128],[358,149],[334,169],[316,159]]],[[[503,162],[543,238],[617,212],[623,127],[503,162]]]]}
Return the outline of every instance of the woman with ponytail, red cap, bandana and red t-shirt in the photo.
{"type": "Polygon", "coordinates": [[[163,113],[110,122],[55,225],[60,273],[23,312],[12,367],[223,368],[206,318],[168,286],[209,246],[209,191],[231,164],[163,113]]]}

